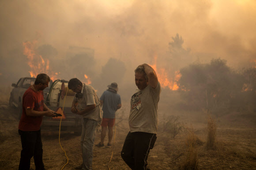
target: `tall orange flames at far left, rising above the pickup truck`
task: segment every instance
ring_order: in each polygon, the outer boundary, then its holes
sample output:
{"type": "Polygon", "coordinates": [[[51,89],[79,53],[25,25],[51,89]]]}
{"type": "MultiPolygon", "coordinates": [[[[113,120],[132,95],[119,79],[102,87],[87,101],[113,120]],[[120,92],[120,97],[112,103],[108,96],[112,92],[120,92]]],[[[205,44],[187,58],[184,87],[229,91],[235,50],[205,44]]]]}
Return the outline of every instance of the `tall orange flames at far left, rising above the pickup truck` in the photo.
{"type": "Polygon", "coordinates": [[[49,59],[46,59],[46,63],[45,60],[43,59],[43,57],[41,55],[36,54],[35,52],[35,48],[36,48],[36,44],[38,41],[26,41],[23,42],[23,46],[24,46],[24,51],[23,54],[27,56],[28,59],[28,65],[30,67],[30,76],[31,77],[36,77],[38,74],[40,73],[45,73],[47,74],[51,80],[56,80],[57,79],[57,75],[60,73],[53,73],[52,71],[49,70],[49,59]]]}

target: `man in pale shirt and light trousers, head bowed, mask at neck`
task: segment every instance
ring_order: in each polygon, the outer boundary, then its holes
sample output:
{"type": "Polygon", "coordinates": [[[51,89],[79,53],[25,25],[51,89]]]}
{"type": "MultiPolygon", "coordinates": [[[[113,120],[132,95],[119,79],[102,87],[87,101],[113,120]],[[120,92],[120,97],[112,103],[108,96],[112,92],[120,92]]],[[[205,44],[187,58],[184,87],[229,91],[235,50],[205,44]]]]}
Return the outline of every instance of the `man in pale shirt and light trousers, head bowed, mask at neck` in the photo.
{"type": "Polygon", "coordinates": [[[83,84],[79,79],[72,78],[68,82],[68,89],[75,92],[71,111],[83,116],[83,129],[81,135],[81,149],[83,163],[75,169],[91,170],[93,158],[94,139],[98,127],[102,122],[102,109],[100,100],[94,88],[83,84]]]}

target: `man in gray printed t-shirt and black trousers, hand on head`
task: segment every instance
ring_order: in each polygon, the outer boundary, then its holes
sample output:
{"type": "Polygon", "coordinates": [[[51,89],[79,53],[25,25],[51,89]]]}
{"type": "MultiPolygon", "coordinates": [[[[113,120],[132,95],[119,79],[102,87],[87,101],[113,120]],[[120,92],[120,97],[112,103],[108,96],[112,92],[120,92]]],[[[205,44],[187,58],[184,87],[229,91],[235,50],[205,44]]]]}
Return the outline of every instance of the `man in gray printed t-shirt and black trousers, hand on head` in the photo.
{"type": "Polygon", "coordinates": [[[139,91],[132,95],[130,102],[130,132],[125,138],[121,156],[132,170],[147,170],[147,157],[157,138],[161,87],[149,65],[139,65],[134,72],[139,91]]]}

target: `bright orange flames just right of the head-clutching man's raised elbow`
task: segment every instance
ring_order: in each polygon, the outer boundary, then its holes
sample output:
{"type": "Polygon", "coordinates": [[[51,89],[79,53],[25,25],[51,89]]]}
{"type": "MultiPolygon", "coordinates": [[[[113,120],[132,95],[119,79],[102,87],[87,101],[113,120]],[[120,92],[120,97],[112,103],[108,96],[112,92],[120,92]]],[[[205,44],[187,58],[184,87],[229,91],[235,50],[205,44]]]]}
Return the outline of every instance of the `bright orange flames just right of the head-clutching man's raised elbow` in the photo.
{"type": "Polygon", "coordinates": [[[156,64],[157,64],[157,56],[154,57],[154,64],[150,65],[150,66],[155,70],[155,73],[157,74],[158,81],[160,82],[161,86],[163,88],[168,87],[171,90],[178,90],[179,86],[177,85],[177,81],[179,81],[180,78],[181,78],[180,71],[175,71],[175,78],[174,78],[174,81],[173,81],[169,78],[169,74],[166,71],[166,69],[165,68],[160,68],[158,70],[157,67],[156,67],[156,64]]]}

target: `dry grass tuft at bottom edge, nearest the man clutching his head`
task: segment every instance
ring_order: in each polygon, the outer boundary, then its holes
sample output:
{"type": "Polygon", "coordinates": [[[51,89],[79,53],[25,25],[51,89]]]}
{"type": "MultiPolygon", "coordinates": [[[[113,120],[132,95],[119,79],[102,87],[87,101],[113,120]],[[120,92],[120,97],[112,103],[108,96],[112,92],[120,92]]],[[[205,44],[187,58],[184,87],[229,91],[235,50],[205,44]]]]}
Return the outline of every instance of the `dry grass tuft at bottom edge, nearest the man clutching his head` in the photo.
{"type": "Polygon", "coordinates": [[[184,160],[185,170],[197,170],[198,163],[198,137],[191,131],[186,139],[186,151],[184,160]]]}

